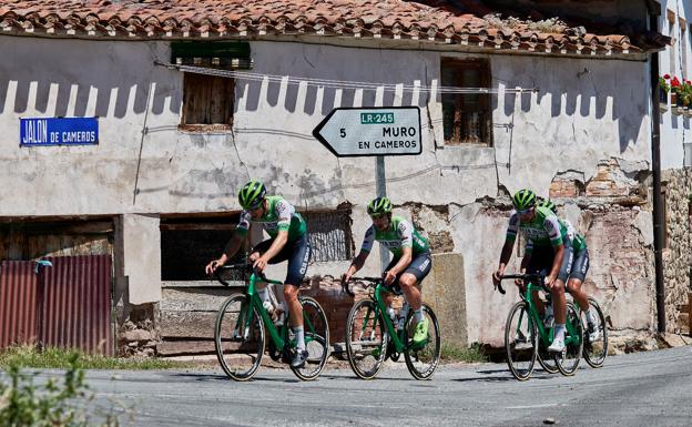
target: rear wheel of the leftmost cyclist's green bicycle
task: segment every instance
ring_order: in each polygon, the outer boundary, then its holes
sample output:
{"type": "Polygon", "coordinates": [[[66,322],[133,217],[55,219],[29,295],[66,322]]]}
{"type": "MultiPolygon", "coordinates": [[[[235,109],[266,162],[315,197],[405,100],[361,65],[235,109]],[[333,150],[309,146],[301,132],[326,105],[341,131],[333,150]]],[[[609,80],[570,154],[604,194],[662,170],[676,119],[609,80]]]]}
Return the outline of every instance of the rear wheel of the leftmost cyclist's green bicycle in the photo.
{"type": "Polygon", "coordinates": [[[307,359],[303,367],[292,366],[291,370],[298,378],[307,382],[319,376],[329,357],[329,325],[324,309],[315,298],[301,296],[298,301],[303,305],[303,331],[307,359]]]}

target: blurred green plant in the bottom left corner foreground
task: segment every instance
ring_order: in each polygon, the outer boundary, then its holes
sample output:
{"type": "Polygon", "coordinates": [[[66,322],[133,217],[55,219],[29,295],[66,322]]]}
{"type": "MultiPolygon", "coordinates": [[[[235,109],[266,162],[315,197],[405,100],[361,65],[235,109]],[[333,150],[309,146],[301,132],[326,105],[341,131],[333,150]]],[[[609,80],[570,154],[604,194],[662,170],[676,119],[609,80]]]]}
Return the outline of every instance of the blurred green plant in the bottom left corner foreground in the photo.
{"type": "Polygon", "coordinates": [[[0,426],[3,427],[118,427],[120,420],[113,411],[98,414],[93,396],[86,393],[84,372],[78,368],[79,354],[70,357],[70,367],[62,383],[54,378],[35,385],[38,373],[21,369],[19,359],[8,363],[9,384],[0,382],[0,426]],[[92,409],[92,410],[90,410],[92,409]],[[88,415],[101,418],[96,424],[88,415]]]}

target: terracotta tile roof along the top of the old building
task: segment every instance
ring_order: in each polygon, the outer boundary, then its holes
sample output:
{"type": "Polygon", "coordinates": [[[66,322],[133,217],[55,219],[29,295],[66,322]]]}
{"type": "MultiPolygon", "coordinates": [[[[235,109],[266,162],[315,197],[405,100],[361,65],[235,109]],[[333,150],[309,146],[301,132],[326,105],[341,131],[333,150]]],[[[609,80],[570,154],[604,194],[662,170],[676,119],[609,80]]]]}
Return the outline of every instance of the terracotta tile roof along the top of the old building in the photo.
{"type": "Polygon", "coordinates": [[[323,35],[587,55],[663,47],[653,37],[639,38],[635,45],[624,34],[564,27],[554,32],[526,24],[498,29],[482,18],[489,9],[471,3],[467,10],[474,13],[441,0],[0,0],[0,34],[150,40],[323,35]]]}

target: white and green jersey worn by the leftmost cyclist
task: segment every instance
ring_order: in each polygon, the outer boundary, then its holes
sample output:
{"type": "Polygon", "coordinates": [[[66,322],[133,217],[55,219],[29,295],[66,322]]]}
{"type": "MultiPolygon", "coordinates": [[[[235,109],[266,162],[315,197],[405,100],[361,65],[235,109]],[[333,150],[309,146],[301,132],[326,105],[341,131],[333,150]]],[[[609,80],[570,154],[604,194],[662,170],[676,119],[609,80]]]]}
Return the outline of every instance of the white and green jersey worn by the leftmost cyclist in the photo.
{"type": "Polygon", "coordinates": [[[250,230],[250,223],[260,223],[272,238],[276,237],[279,231],[288,232],[289,242],[302,237],[307,230],[307,224],[303,216],[295,212],[295,207],[279,195],[267,196],[266,199],[269,202],[269,207],[261,218],[253,220],[247,211],[241,213],[236,233],[244,236],[250,230]]]}

